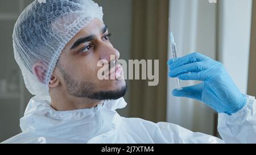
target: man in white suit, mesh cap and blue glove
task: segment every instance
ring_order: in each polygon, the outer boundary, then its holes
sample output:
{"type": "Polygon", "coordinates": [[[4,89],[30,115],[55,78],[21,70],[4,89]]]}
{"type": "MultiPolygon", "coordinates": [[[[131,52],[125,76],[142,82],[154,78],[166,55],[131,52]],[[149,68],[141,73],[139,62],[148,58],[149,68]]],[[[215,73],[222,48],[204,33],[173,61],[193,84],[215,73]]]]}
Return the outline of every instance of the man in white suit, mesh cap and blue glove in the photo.
{"type": "MultiPolygon", "coordinates": [[[[34,1],[13,34],[15,60],[34,94],[20,119],[22,133],[3,143],[256,143],[255,99],[240,93],[219,62],[192,53],[170,60],[170,77],[200,80],[174,90],[220,112],[222,139],[171,123],[123,118],[127,87],[121,66],[100,80],[98,61],[119,52],[109,41],[102,8],[90,0],[34,1]]],[[[116,62],[116,60],[114,62],[116,62]]]]}

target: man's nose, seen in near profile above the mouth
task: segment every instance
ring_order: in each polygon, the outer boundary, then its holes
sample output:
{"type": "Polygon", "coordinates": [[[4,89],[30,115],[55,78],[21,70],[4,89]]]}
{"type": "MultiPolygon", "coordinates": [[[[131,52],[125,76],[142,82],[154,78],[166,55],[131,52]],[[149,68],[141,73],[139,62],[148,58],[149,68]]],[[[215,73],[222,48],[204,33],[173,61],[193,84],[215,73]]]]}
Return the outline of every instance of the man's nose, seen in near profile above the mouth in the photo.
{"type": "Polygon", "coordinates": [[[120,57],[119,51],[115,49],[112,44],[103,43],[99,50],[101,60],[107,60],[108,62],[110,62],[111,55],[115,56],[115,60],[118,60],[120,57]]]}

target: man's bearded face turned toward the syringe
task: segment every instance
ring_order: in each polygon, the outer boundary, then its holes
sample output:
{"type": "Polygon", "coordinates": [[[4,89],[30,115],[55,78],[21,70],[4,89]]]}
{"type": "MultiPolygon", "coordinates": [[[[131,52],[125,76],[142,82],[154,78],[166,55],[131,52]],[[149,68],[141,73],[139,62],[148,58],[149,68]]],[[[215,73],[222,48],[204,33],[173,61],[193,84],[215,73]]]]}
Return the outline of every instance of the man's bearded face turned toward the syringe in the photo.
{"type": "Polygon", "coordinates": [[[97,77],[101,68],[97,66],[98,61],[107,60],[110,63],[110,55],[115,55],[116,60],[119,58],[119,52],[110,43],[109,37],[105,24],[94,19],[66,45],[57,63],[56,70],[59,72],[55,70],[53,73],[59,74],[61,85],[70,95],[98,100],[118,99],[125,95],[125,80],[118,78],[123,74],[122,67],[114,69],[115,79],[100,80],[97,77]]]}

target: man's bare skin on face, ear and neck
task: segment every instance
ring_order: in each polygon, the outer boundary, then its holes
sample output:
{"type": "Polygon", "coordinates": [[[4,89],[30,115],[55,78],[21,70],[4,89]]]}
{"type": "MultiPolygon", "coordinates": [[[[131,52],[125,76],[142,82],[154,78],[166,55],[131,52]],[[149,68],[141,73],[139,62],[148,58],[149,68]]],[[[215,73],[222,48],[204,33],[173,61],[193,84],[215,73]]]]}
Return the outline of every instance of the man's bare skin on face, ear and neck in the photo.
{"type": "MultiPolygon", "coordinates": [[[[123,78],[117,78],[117,71],[114,73],[115,79],[100,80],[97,77],[101,68],[97,66],[98,61],[110,63],[110,55],[114,55],[115,60],[119,58],[119,52],[110,43],[109,32],[104,27],[104,23],[94,19],[63,49],[49,82],[51,106],[55,110],[91,108],[102,104],[105,99],[117,99],[125,95],[127,86],[123,78]],[[91,35],[91,41],[75,44],[77,40],[91,35]]],[[[34,67],[39,79],[44,74],[40,73],[42,68],[40,64],[34,67]]]]}

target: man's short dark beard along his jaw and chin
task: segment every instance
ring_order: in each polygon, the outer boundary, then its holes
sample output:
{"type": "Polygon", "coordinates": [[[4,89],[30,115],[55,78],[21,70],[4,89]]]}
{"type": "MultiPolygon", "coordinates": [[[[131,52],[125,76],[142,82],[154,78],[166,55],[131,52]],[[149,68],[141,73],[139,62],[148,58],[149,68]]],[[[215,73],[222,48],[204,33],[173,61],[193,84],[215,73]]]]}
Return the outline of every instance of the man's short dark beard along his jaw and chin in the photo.
{"type": "Polygon", "coordinates": [[[62,68],[62,66],[57,65],[63,75],[64,82],[68,94],[74,97],[89,98],[96,100],[107,100],[107,99],[118,99],[123,97],[127,92],[127,84],[121,87],[119,90],[113,91],[95,91],[96,85],[92,82],[75,81],[69,76],[68,73],[62,68]]]}

